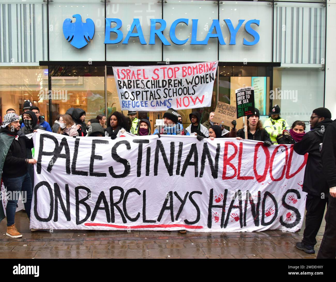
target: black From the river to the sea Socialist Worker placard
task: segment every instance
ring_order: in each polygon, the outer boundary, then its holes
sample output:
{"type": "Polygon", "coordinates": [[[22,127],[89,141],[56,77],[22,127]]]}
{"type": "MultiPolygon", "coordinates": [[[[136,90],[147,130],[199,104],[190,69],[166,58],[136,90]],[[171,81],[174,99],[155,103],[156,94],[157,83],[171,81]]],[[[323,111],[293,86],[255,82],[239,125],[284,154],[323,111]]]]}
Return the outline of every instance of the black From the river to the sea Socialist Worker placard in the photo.
{"type": "Polygon", "coordinates": [[[237,118],[254,113],[254,87],[242,87],[236,90],[237,118]]]}

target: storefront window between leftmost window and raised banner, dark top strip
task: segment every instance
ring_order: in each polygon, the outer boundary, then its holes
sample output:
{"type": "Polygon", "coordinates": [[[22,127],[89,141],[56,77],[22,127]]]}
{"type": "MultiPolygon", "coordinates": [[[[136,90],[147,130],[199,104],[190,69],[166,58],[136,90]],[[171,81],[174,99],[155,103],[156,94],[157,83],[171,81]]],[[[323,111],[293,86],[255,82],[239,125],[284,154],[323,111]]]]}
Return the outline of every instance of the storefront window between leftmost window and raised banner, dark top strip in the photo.
{"type": "Polygon", "coordinates": [[[85,121],[105,115],[104,67],[50,66],[52,121],[69,108],[86,112],[85,121]]]}

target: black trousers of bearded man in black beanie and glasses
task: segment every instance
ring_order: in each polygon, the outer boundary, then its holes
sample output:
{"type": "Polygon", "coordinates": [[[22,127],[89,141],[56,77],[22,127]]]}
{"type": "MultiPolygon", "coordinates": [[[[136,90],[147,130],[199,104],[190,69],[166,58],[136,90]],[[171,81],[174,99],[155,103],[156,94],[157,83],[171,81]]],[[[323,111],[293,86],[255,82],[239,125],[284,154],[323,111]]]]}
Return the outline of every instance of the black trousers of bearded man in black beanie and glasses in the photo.
{"type": "Polygon", "coordinates": [[[321,196],[307,194],[306,198],[306,221],[303,231],[302,243],[314,247],[316,245],[316,235],[319,232],[323,220],[326,204],[328,204],[328,195],[326,199],[321,196]]]}

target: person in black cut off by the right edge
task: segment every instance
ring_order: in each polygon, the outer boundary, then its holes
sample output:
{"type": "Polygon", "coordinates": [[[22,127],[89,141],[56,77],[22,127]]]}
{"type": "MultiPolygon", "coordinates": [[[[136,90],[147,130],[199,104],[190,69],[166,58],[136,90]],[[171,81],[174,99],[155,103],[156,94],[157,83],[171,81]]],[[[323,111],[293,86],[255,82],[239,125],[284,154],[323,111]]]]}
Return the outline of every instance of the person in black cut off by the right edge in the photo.
{"type": "MultiPolygon", "coordinates": [[[[336,253],[336,120],[323,134],[321,160],[329,188],[326,227],[317,258],[335,258],[336,253]]],[[[327,195],[326,195],[327,196],[327,195]]]]}

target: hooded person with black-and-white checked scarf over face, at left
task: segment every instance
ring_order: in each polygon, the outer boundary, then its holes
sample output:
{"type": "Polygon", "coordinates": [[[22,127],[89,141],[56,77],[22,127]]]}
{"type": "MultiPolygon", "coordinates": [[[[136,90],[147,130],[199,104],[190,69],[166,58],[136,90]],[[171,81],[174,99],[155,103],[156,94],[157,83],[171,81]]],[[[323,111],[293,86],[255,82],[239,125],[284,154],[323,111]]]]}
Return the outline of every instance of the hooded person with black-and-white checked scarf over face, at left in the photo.
{"type": "MultiPolygon", "coordinates": [[[[32,111],[27,111],[22,114],[23,123],[25,126],[21,131],[27,135],[33,133],[36,129],[45,130],[43,126],[37,124],[37,116],[32,111]]],[[[34,154],[34,148],[32,150],[27,149],[27,158],[32,159],[34,154]]],[[[34,166],[27,165],[28,173],[32,181],[32,187],[34,187],[34,166]]]]}

